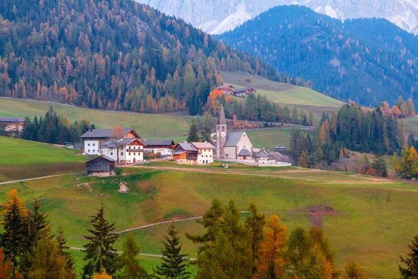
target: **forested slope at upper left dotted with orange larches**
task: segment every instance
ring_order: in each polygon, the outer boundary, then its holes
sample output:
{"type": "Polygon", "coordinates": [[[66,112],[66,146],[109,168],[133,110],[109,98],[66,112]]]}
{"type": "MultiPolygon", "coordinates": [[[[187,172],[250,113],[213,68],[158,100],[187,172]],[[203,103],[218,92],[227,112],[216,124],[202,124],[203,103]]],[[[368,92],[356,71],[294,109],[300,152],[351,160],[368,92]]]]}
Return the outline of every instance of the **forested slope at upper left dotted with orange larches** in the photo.
{"type": "Polygon", "coordinates": [[[0,1],[0,96],[197,114],[222,83],[222,59],[280,80],[255,56],[132,0],[0,1]]]}

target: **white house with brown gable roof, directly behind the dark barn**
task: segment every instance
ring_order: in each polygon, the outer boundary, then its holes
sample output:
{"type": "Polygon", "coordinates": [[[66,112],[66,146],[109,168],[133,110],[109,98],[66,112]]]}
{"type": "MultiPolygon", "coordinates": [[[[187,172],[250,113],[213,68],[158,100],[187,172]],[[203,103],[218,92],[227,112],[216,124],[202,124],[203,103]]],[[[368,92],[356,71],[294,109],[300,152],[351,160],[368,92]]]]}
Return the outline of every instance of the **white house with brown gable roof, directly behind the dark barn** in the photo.
{"type": "Polygon", "coordinates": [[[119,146],[119,162],[121,164],[137,164],[144,161],[144,146],[145,144],[139,139],[121,139],[109,140],[102,144],[104,146],[104,156],[118,160],[119,146]]]}

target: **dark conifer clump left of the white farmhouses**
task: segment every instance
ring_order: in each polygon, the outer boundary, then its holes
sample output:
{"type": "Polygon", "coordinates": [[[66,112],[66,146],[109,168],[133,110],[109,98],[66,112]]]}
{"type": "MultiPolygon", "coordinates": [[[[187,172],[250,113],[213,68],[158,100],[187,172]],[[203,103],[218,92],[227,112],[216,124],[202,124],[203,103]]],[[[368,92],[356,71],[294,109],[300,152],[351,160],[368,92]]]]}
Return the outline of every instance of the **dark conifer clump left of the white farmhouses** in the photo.
{"type": "Polygon", "coordinates": [[[55,110],[49,107],[45,116],[33,117],[33,121],[26,116],[20,135],[23,140],[46,142],[49,144],[64,144],[77,142],[90,128],[95,128],[90,121],[83,119],[72,123],[67,117],[57,116],[55,110]]]}

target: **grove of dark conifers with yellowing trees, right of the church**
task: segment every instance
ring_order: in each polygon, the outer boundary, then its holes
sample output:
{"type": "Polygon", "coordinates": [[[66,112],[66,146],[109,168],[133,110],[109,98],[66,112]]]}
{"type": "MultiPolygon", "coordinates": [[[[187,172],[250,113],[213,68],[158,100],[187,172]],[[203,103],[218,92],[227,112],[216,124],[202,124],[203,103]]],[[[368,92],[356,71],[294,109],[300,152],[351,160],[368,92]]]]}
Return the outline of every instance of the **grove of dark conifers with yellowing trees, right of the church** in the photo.
{"type": "Polygon", "coordinates": [[[302,167],[330,165],[349,158],[350,151],[391,155],[405,144],[402,122],[385,116],[381,107],[367,110],[353,103],[343,105],[337,114],[323,114],[314,135],[294,130],[291,156],[302,167]]]}

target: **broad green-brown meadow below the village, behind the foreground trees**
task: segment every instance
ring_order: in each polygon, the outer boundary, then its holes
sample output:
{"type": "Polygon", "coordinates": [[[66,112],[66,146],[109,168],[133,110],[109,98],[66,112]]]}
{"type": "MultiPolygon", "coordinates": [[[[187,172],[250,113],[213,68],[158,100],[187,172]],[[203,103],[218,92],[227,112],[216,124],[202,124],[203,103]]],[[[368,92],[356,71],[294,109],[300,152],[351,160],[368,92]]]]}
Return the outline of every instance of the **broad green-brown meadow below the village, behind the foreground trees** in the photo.
{"type": "MultiPolygon", "coordinates": [[[[336,250],[337,265],[354,260],[370,278],[396,277],[398,255],[407,252],[410,239],[418,232],[415,184],[335,172],[233,165],[227,171],[216,165],[177,170],[162,165],[124,171],[130,174],[111,178],[60,176],[9,184],[0,188],[0,202],[12,188],[17,188],[29,205],[38,197],[52,225],[63,225],[70,246],[76,247],[84,243],[88,216],[102,203],[118,229],[201,216],[215,197],[222,202],[233,198],[242,210],[254,201],[262,211],[277,213],[289,229],[311,225],[306,214],[310,206],[332,206],[339,216],[323,216],[322,225],[336,250]],[[121,182],[130,193],[118,193],[121,182]]],[[[184,238],[184,233],[199,232],[201,227],[192,221],[177,224],[185,252],[195,256],[196,246],[184,238]]],[[[159,253],[167,226],[132,231],[141,243],[141,252],[159,253]]],[[[148,267],[157,262],[146,259],[148,267]]]]}

